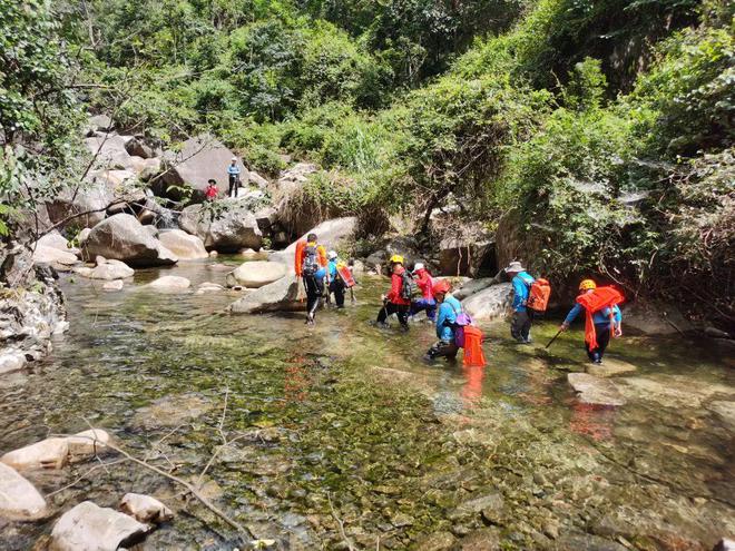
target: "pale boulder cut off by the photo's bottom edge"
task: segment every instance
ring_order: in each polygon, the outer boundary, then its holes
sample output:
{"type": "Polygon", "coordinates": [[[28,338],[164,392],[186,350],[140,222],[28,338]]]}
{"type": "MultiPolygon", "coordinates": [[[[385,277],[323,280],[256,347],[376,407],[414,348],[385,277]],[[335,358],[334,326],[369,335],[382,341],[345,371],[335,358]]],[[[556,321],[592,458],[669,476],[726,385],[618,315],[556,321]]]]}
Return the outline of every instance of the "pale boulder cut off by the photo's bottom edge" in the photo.
{"type": "Polygon", "coordinates": [[[50,551],[116,551],[144,538],[148,527],[127,514],[82,501],[67,511],[51,531],[50,551]]]}

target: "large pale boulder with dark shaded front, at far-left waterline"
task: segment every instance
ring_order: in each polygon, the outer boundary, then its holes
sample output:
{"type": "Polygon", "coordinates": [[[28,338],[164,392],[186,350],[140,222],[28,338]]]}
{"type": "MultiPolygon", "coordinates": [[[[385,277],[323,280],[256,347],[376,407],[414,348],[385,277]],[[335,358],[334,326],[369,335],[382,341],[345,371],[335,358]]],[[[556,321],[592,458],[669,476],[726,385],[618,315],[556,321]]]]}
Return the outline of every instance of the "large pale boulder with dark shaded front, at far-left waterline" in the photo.
{"type": "Polygon", "coordinates": [[[130,266],[161,266],[178,260],[128,214],[111,216],[95,226],[85,239],[82,254],[87,258],[100,255],[122,260],[130,266]]]}

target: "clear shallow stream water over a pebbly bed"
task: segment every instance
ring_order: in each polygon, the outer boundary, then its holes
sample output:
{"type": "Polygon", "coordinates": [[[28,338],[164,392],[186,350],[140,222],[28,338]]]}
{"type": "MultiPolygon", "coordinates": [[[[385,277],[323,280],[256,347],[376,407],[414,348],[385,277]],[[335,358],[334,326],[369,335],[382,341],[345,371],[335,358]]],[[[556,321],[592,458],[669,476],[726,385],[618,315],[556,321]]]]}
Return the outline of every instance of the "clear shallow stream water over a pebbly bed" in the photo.
{"type": "Polygon", "coordinates": [[[702,343],[626,337],[588,380],[579,333],[548,352],[553,324],[519,347],[490,323],[484,370],[427,366],[431,326],[367,325],[380,278],[308,328],[225,314],[242,295],[197,291],[226,283],[212,264],[140,269],[116,293],[62,275],[71,327],[0,378],[0,451],[91,424],[246,533],[158,473],[88,461],[24,472],[49,516],[0,520],[0,549],[40,549],[79,503],[131,492],[173,513],[139,549],[708,550],[735,535],[735,381],[702,343]],[[147,286],[164,275],[192,285],[147,286]]]}

